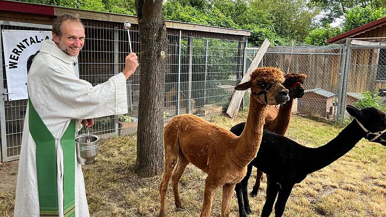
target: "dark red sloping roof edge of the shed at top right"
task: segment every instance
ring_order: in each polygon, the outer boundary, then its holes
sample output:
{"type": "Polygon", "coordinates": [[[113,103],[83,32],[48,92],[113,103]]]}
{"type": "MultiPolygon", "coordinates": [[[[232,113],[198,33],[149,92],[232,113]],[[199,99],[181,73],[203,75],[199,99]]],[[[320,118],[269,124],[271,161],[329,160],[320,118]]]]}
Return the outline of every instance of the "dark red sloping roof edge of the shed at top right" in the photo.
{"type": "Polygon", "coordinates": [[[335,37],[329,38],[326,40],[327,43],[342,43],[347,38],[352,38],[356,35],[359,35],[361,33],[379,28],[383,25],[386,25],[386,17],[381,18],[379,20],[373,21],[371,23],[365,24],[361,27],[355,28],[353,30],[350,30],[348,32],[345,32],[343,34],[337,35],[335,37]]]}

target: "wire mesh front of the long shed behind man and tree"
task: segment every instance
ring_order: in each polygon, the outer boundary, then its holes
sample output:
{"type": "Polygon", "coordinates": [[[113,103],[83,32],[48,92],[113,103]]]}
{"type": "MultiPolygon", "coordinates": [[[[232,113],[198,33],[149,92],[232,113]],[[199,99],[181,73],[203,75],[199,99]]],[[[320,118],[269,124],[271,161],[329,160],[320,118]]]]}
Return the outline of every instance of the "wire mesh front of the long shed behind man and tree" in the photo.
{"type": "MultiPolygon", "coordinates": [[[[124,23],[82,20],[86,41],[78,56],[79,78],[92,85],[107,81],[120,73],[129,53],[128,32],[124,23]]],[[[33,24],[1,25],[2,30],[50,30],[33,24]]],[[[234,86],[243,74],[246,37],[167,29],[167,73],[165,76],[164,120],[178,114],[210,117],[226,111],[234,86]]],[[[128,114],[95,119],[90,133],[100,138],[133,133],[138,123],[141,56],[138,25],[129,31],[133,52],[139,67],[127,81],[128,114]]],[[[2,48],[2,55],[3,55],[2,48]]],[[[4,58],[3,58],[4,59],[4,58]]],[[[5,62],[2,61],[3,83],[7,88],[5,62]]],[[[5,132],[2,140],[3,161],[18,159],[21,148],[27,100],[5,100],[5,132]],[[4,150],[4,151],[3,151],[4,150]]],[[[83,131],[80,131],[80,134],[83,131]]]]}

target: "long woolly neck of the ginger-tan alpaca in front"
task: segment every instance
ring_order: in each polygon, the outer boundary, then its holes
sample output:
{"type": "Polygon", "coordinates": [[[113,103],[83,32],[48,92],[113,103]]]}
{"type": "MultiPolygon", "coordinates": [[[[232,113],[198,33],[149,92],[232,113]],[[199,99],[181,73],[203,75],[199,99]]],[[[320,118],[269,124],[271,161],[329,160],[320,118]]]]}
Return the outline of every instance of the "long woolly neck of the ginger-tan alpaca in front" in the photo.
{"type": "Polygon", "coordinates": [[[263,125],[267,112],[267,105],[261,104],[252,94],[249,97],[247,121],[243,133],[238,138],[235,150],[235,162],[240,167],[246,167],[256,157],[263,136],[263,125]]]}

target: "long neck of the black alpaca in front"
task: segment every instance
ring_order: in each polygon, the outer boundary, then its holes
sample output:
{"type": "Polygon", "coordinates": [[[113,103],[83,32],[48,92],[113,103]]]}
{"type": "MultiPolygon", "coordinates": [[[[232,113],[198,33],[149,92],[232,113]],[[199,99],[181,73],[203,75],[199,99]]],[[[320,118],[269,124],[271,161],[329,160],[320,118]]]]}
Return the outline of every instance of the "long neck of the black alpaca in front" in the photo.
{"type": "Polygon", "coordinates": [[[365,132],[354,120],[326,145],[312,149],[305,156],[307,160],[303,166],[307,167],[308,173],[322,169],[349,152],[365,136],[365,132]]]}

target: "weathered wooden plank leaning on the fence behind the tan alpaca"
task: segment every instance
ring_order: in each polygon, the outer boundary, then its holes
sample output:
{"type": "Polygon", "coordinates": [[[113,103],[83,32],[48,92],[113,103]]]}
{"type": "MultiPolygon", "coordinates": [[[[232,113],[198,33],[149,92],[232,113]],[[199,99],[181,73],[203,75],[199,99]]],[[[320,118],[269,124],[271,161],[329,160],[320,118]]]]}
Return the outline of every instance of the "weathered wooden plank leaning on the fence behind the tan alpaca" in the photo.
{"type": "MultiPolygon", "coordinates": [[[[247,72],[241,79],[240,83],[244,83],[249,80],[249,75],[259,65],[259,63],[261,62],[261,59],[263,59],[265,52],[268,50],[269,45],[270,45],[270,42],[268,41],[268,39],[265,39],[263,44],[260,46],[259,51],[257,52],[255,58],[252,60],[252,63],[249,66],[247,72]]],[[[237,113],[239,112],[241,100],[243,99],[243,96],[244,96],[244,92],[245,90],[235,90],[235,93],[232,96],[232,100],[229,103],[229,107],[227,110],[227,114],[231,118],[237,116],[237,113]]]]}

